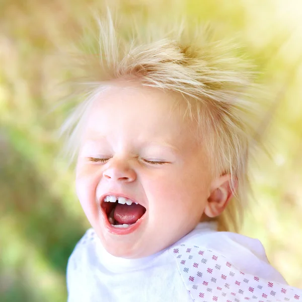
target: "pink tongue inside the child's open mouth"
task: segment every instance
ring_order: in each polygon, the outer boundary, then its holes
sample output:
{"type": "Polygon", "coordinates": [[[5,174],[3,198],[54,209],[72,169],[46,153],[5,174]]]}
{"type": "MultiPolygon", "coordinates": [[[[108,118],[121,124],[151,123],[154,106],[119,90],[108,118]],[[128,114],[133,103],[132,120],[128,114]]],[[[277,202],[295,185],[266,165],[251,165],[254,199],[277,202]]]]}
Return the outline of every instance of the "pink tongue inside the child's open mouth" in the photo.
{"type": "Polygon", "coordinates": [[[131,205],[118,203],[114,210],[114,219],[123,224],[135,223],[145,212],[145,208],[140,204],[131,205]]]}

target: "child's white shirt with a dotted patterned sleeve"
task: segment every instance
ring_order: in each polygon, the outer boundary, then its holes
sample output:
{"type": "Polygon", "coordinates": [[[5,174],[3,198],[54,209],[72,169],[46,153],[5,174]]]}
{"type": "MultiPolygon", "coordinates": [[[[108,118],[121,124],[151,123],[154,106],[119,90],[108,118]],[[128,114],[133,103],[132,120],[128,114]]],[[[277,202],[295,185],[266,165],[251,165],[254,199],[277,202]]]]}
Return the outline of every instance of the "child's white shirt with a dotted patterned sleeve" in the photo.
{"type": "Polygon", "coordinates": [[[110,255],[93,229],[67,265],[68,302],[302,301],[258,240],[199,223],[173,246],[141,259],[110,255]]]}

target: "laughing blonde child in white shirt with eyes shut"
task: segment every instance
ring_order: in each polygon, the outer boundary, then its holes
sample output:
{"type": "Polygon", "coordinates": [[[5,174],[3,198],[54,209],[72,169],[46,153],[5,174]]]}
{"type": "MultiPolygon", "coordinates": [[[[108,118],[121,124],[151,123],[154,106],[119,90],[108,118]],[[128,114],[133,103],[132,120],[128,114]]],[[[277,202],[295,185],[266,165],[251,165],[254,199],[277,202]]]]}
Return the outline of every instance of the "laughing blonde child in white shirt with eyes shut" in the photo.
{"type": "Polygon", "coordinates": [[[199,30],[100,30],[90,97],[64,126],[92,225],[68,261],[68,301],[302,301],[259,241],[229,232],[256,128],[247,63],[199,30]]]}

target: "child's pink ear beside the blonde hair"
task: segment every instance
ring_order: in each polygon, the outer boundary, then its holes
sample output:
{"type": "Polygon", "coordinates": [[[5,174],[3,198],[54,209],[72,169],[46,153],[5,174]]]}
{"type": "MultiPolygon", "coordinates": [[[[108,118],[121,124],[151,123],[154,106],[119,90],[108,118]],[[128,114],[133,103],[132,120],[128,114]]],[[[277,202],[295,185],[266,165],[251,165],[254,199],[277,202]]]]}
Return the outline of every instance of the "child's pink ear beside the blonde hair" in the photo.
{"type": "MultiPolygon", "coordinates": [[[[236,188],[237,182],[234,184],[233,191],[236,188]]],[[[211,218],[220,215],[233,197],[233,191],[230,174],[225,174],[215,179],[211,184],[210,195],[207,199],[204,213],[211,218]]]]}

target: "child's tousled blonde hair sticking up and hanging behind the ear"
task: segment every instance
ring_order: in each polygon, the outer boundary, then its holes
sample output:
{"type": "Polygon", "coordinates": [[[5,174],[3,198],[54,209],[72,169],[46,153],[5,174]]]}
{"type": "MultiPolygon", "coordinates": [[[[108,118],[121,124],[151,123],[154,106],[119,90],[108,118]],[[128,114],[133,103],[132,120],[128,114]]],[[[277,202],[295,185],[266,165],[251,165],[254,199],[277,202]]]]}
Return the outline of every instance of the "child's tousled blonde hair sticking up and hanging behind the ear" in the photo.
{"type": "Polygon", "coordinates": [[[116,30],[110,14],[99,21],[99,31],[98,53],[81,60],[88,74],[88,96],[62,126],[70,157],[77,155],[85,112],[108,82],[134,77],[144,86],[179,93],[187,104],[186,114],[202,130],[213,175],[231,175],[235,197],[216,220],[220,231],[237,232],[247,202],[248,157],[257,125],[257,104],[250,97],[253,72],[238,55],[238,45],[215,41],[209,30],[184,23],[170,29],[141,24],[127,37],[116,30]]]}

